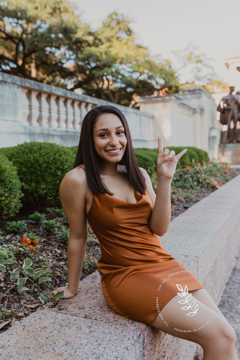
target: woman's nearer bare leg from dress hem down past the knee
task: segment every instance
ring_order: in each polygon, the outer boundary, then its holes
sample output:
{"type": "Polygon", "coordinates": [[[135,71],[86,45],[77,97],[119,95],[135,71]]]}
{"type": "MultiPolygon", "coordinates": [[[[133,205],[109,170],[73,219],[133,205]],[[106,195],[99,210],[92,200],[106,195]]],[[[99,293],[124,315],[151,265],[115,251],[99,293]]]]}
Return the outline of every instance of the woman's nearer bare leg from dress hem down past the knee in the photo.
{"type": "Polygon", "coordinates": [[[206,294],[196,294],[204,302],[210,303],[213,309],[193,297],[192,293],[191,301],[195,300],[196,304],[198,303],[198,314],[187,316],[188,311],[181,309],[179,297],[175,296],[164,306],[160,316],[157,315],[151,326],[172,336],[198,343],[203,348],[204,360],[238,360],[234,329],[219,314],[219,310],[215,309],[216,304],[212,304],[206,294]]]}

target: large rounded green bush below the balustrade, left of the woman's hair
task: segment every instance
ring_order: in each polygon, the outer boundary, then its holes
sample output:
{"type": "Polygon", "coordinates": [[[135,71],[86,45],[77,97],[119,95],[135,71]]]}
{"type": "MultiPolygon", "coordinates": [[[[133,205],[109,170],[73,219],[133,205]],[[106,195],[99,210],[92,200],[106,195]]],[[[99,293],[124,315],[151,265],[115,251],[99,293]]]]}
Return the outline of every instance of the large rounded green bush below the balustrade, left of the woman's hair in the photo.
{"type": "Polygon", "coordinates": [[[17,168],[24,201],[54,203],[60,199],[59,186],[71,170],[75,158],[73,150],[54,143],[30,141],[1,148],[0,153],[4,153],[17,168]]]}

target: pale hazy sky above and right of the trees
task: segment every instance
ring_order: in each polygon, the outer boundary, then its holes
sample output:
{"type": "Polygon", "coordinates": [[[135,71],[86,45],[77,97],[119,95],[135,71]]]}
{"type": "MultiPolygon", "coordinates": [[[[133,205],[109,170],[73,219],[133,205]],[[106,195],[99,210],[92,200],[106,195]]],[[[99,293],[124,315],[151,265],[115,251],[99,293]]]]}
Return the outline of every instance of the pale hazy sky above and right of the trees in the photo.
{"type": "MultiPolygon", "coordinates": [[[[82,21],[92,30],[113,11],[133,19],[131,28],[138,42],[151,55],[173,59],[172,50],[182,50],[189,42],[197,52],[213,58],[215,72],[228,82],[223,59],[240,55],[240,0],[74,0],[82,21]]],[[[187,80],[187,74],[183,75],[187,80]]]]}

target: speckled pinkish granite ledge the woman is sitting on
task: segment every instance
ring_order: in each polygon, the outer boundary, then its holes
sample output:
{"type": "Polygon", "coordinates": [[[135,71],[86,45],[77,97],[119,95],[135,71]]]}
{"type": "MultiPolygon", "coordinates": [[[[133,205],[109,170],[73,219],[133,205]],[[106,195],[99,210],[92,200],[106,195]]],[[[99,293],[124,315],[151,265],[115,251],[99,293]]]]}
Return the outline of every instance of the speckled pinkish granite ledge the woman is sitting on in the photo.
{"type": "MultiPolygon", "coordinates": [[[[161,238],[167,251],[218,296],[240,246],[240,175],[176,217],[161,238]]],[[[215,300],[215,298],[214,298],[215,300]]],[[[123,318],[109,308],[95,272],[80,293],[33,313],[0,335],[1,359],[193,360],[198,345],[123,318]],[[37,343],[37,344],[36,344],[37,343]]]]}

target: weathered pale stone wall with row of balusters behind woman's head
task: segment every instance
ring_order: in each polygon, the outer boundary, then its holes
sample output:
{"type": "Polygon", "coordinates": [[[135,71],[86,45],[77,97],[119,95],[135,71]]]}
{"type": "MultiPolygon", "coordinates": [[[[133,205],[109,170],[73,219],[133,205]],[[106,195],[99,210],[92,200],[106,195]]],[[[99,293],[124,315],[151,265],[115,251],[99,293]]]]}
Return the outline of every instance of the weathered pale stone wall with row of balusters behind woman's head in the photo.
{"type": "Polygon", "coordinates": [[[113,105],[124,113],[135,148],[157,147],[152,114],[4,73],[0,73],[0,147],[30,140],[77,145],[84,116],[98,105],[113,105]]]}

